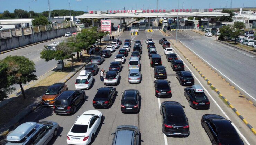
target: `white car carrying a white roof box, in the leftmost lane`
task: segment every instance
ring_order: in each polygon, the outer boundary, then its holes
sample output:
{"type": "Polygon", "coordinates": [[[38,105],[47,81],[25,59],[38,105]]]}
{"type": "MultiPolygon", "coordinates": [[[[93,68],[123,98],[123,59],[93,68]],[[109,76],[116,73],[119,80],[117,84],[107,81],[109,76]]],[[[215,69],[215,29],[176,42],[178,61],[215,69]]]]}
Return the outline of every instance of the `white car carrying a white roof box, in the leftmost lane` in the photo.
{"type": "Polygon", "coordinates": [[[75,81],[75,89],[90,89],[93,80],[94,79],[91,74],[89,74],[86,70],[81,70],[75,81]]]}

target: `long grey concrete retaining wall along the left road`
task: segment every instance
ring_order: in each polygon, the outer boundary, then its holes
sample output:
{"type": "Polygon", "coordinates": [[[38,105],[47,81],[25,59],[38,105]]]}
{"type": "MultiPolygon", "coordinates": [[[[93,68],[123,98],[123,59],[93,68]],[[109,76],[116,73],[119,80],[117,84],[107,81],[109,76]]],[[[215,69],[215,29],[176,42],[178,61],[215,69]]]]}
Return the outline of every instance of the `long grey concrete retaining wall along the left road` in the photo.
{"type": "MultiPolygon", "coordinates": [[[[35,41],[41,42],[41,41],[53,39],[56,37],[64,36],[66,32],[71,32],[71,33],[76,32],[76,27],[74,26],[74,27],[67,27],[63,29],[56,29],[51,31],[34,33],[35,41]]],[[[17,47],[22,47],[22,46],[33,44],[33,43],[34,43],[33,34],[1,39],[0,52],[14,49],[17,47]]]]}

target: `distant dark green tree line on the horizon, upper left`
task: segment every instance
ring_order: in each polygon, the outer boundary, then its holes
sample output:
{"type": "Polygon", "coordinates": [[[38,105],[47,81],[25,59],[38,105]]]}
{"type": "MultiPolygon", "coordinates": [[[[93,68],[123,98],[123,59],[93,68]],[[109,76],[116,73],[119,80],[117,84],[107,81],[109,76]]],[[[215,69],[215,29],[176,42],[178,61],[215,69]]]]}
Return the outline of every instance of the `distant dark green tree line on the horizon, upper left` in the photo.
{"type": "MultiPolygon", "coordinates": [[[[37,18],[40,16],[49,17],[49,11],[43,11],[41,13],[36,13],[34,11],[31,12],[32,18],[37,18]]],[[[84,14],[84,11],[73,11],[71,10],[71,16],[78,16],[84,14]]],[[[51,16],[70,16],[69,10],[52,10],[51,16]]],[[[29,11],[25,11],[22,9],[15,9],[13,13],[9,11],[4,11],[0,14],[0,19],[20,19],[20,18],[30,18],[29,11]]]]}

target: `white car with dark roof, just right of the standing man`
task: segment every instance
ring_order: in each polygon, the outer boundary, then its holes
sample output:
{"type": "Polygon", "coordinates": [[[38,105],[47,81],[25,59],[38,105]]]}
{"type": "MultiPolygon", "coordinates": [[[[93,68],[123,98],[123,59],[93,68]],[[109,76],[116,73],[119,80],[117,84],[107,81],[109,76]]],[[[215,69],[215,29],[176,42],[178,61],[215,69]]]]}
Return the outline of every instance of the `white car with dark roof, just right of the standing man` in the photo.
{"type": "Polygon", "coordinates": [[[118,71],[107,71],[104,78],[104,85],[117,85],[120,73],[118,71]]]}

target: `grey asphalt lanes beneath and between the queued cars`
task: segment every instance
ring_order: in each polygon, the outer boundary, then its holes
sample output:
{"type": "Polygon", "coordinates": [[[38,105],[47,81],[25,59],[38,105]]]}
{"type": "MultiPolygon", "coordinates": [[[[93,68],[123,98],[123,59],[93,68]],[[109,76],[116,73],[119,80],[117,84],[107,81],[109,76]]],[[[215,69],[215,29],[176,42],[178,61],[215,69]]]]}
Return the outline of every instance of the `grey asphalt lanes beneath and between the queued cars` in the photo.
{"type": "MultiPolygon", "coordinates": [[[[167,62],[165,55],[163,53],[162,47],[159,45],[159,38],[163,37],[162,33],[159,31],[155,31],[154,33],[149,33],[145,31],[140,31],[140,35],[131,36],[129,35],[129,31],[122,33],[120,35],[120,39],[132,39],[132,40],[142,40],[143,41],[143,54],[141,56],[141,74],[142,81],[140,84],[129,84],[128,83],[128,61],[123,64],[123,69],[120,72],[120,83],[115,86],[118,91],[118,96],[116,97],[113,105],[108,109],[96,109],[100,110],[104,115],[104,122],[100,125],[97,135],[95,136],[95,141],[92,144],[95,145],[111,145],[113,136],[111,133],[115,132],[115,129],[118,125],[136,125],[140,129],[141,133],[141,144],[143,145],[170,145],[170,144],[197,144],[197,145],[205,145],[211,144],[208,135],[205,133],[204,129],[201,127],[201,117],[204,114],[213,113],[219,114],[225,118],[226,115],[232,120],[235,126],[241,132],[241,136],[245,137],[246,141],[249,144],[256,144],[255,136],[246,125],[232,112],[230,108],[228,108],[221,99],[217,96],[217,94],[209,88],[209,86],[205,83],[204,79],[199,76],[199,74],[192,69],[191,66],[186,64],[185,69],[188,70],[188,67],[194,74],[195,84],[201,84],[207,89],[209,92],[208,98],[211,102],[211,107],[209,110],[194,110],[189,107],[188,101],[184,97],[183,90],[185,87],[179,85],[175,74],[176,72],[172,71],[170,67],[170,62],[167,62]],[[166,66],[168,81],[171,81],[172,87],[172,98],[156,98],[154,96],[154,85],[153,81],[153,68],[150,67],[149,59],[147,56],[147,48],[145,45],[145,39],[152,38],[155,42],[158,54],[162,57],[162,63],[166,66]],[[141,93],[141,109],[139,113],[135,114],[123,114],[120,110],[121,103],[121,93],[126,89],[137,89],[141,93]],[[214,100],[213,100],[214,99],[214,100]],[[159,105],[163,101],[172,100],[178,101],[182,105],[185,106],[184,110],[186,116],[189,120],[190,125],[190,135],[188,137],[169,137],[165,136],[162,133],[162,118],[159,113],[159,105]],[[225,115],[225,114],[226,115],[225,115]]],[[[132,42],[132,45],[134,42],[132,42]]],[[[107,58],[106,61],[102,65],[99,65],[99,68],[103,68],[108,70],[110,62],[114,60],[115,55],[118,53],[119,49],[113,52],[110,58],[107,58]]],[[[129,53],[127,59],[131,56],[131,52],[129,53]]],[[[186,62],[185,62],[186,63],[186,62]]],[[[74,77],[72,77],[69,81],[67,81],[67,85],[69,90],[75,89],[75,80],[79,73],[77,73],[74,77]]],[[[85,90],[86,96],[88,98],[86,101],[78,108],[77,112],[73,115],[56,115],[53,113],[53,108],[49,107],[38,107],[33,113],[27,116],[22,122],[27,121],[42,121],[42,120],[52,120],[58,122],[60,124],[59,134],[57,138],[51,140],[49,144],[63,145],[66,144],[66,136],[70,128],[72,127],[74,121],[76,120],[77,115],[81,115],[84,111],[94,110],[92,106],[92,100],[97,92],[97,89],[103,87],[103,82],[100,81],[99,74],[94,76],[94,84],[90,90],[85,90]]]]}

